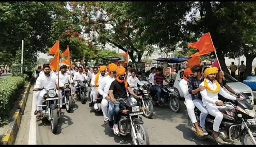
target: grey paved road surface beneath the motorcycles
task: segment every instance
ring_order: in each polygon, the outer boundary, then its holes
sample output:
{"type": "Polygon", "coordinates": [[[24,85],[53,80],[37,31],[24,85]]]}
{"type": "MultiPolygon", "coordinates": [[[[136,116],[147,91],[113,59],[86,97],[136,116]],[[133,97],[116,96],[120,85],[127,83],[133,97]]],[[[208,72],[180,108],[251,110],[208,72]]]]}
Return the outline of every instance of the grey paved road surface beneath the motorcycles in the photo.
{"type": "MultiPolygon", "coordinates": [[[[32,91],[22,117],[21,127],[15,144],[28,144],[31,118],[32,91]]],[[[145,117],[145,127],[149,133],[150,144],[216,144],[212,140],[198,140],[192,132],[185,128],[187,115],[184,101],[181,101],[181,112],[174,113],[168,106],[154,107],[153,119],[145,117]]],[[[103,114],[95,113],[89,108],[89,103],[82,105],[80,101],[73,104],[72,113],[64,114],[58,120],[56,134],[50,131],[50,122],[36,122],[37,144],[132,144],[131,136],[114,135],[103,123],[103,114]]],[[[236,143],[236,144],[239,144],[236,143]]]]}

